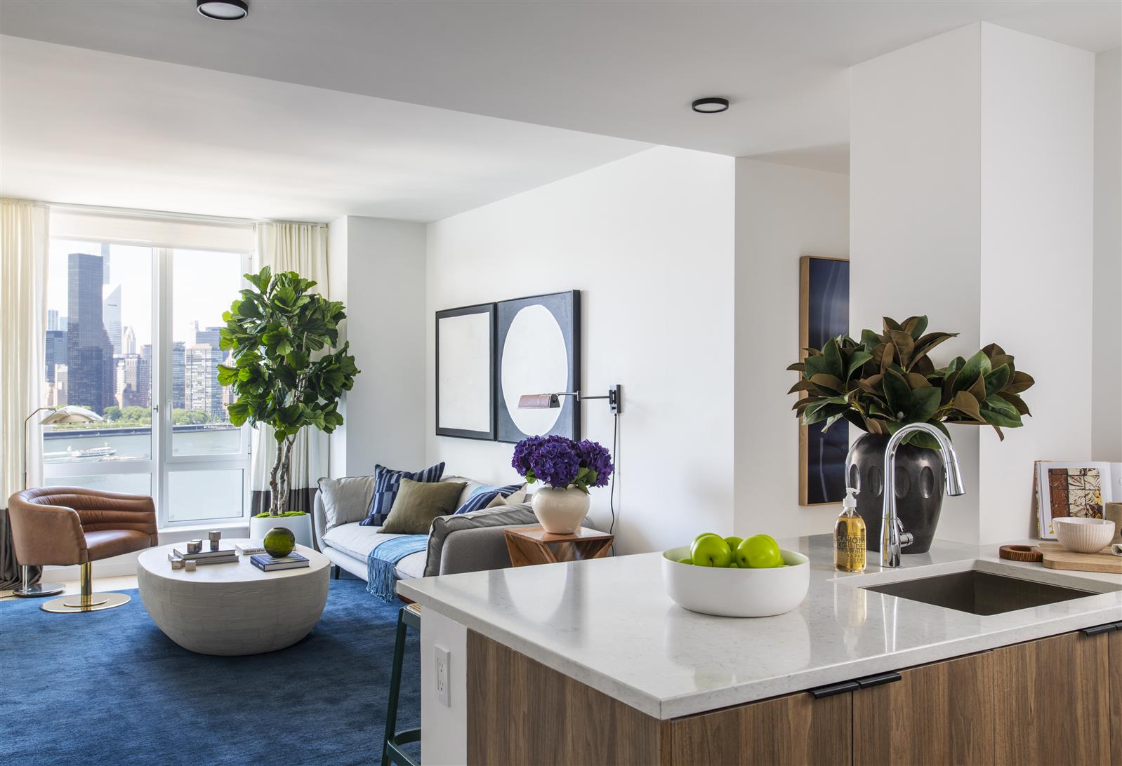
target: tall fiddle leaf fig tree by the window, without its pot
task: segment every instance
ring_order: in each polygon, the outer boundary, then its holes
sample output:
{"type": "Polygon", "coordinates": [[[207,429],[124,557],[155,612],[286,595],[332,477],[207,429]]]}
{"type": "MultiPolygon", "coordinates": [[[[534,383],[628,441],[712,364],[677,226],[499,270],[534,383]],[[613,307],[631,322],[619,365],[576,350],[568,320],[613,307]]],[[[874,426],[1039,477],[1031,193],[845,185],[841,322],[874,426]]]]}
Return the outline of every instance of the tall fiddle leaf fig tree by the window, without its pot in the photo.
{"type": "Polygon", "coordinates": [[[230,404],[234,425],[273,428],[277,456],[269,473],[269,516],[288,500],[292,445],[301,428],[331,433],[342,425],[339,398],[359,373],[349,343],[339,342],[339,322],[347,314],[340,301],[310,292],[316,283],[295,271],[273,274],[268,266],[247,274],[251,288],[222,314],[221,348],[233,367],[218,366],[221,386],[233,386],[230,404]]]}

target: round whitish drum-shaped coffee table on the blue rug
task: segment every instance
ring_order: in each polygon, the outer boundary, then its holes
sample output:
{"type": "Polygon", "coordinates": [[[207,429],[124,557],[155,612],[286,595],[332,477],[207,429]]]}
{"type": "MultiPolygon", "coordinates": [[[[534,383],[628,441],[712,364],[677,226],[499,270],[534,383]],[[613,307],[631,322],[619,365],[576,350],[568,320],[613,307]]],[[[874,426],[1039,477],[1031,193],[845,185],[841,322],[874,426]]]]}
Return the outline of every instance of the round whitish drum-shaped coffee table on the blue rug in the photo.
{"type": "MultiPolygon", "coordinates": [[[[233,547],[248,539],[223,539],[233,547]]],[[[199,654],[261,654],[292,646],[306,636],[328,602],[331,562],[303,545],[303,569],[263,572],[249,556],[237,563],[204,564],[194,572],[173,570],[167,555],[186,543],[140,554],[140,600],[151,621],[173,642],[199,654]]]]}

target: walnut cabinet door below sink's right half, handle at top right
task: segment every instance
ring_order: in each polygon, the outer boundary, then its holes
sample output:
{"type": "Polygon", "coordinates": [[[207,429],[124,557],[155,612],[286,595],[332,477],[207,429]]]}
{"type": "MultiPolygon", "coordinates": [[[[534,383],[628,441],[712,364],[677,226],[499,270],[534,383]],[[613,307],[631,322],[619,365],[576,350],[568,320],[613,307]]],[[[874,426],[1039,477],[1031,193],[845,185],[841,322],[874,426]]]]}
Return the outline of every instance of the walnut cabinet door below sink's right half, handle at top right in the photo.
{"type": "Polygon", "coordinates": [[[991,653],[994,763],[1110,763],[1109,638],[1069,633],[991,653]]]}

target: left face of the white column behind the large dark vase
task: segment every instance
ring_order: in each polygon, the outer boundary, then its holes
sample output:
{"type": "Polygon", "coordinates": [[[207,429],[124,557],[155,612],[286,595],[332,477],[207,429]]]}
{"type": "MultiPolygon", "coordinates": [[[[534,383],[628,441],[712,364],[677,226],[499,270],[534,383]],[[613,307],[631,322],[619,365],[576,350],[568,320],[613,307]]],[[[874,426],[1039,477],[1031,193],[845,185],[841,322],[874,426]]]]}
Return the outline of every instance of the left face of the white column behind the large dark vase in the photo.
{"type": "MultiPolygon", "coordinates": [[[[959,333],[936,363],[981,348],[978,35],[955,29],[853,67],[849,330],[927,314],[931,330],[959,333]]],[[[938,535],[976,542],[978,433],[951,434],[966,495],[944,499],[938,535]]]]}

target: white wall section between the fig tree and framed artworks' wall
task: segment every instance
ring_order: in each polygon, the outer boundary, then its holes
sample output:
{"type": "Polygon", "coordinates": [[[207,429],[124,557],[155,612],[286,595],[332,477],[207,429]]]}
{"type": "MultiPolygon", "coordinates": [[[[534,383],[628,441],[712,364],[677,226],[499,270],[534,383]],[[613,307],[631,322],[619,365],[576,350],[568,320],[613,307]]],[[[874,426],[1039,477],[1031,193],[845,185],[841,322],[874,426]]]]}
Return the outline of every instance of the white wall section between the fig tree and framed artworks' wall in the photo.
{"type": "Polygon", "coordinates": [[[328,238],[331,298],[347,304],[346,336],[361,373],[333,434],[332,476],[424,460],[425,228],[349,215],[328,238]]]}

